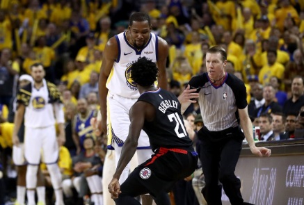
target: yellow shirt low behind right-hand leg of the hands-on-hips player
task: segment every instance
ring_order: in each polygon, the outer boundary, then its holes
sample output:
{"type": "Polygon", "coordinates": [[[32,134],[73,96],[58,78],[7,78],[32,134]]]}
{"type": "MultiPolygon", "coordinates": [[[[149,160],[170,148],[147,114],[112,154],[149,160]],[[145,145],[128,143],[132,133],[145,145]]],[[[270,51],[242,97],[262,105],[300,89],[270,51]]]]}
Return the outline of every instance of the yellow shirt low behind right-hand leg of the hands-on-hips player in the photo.
{"type": "MultiPolygon", "coordinates": [[[[62,174],[72,176],[72,158],[70,156],[70,151],[64,146],[61,146],[59,150],[58,166],[63,169],[62,174]]],[[[45,165],[45,163],[41,163],[40,169],[47,170],[47,165],[45,165]]]]}

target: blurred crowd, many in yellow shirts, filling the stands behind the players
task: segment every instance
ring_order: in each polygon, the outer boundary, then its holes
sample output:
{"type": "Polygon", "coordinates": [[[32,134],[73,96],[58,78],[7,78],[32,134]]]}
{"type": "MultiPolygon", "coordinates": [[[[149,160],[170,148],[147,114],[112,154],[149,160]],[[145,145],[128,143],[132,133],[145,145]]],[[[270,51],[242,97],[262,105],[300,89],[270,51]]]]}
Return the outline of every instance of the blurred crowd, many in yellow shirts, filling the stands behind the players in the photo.
{"type": "MultiPolygon", "coordinates": [[[[227,51],[225,71],[246,84],[248,113],[261,129],[260,140],[298,138],[301,132],[296,130],[304,129],[304,1],[0,2],[0,204],[16,197],[13,121],[8,116],[19,76],[30,74],[33,63],[43,64],[45,78],[63,95],[66,142],[59,165],[66,202],[81,204],[90,192],[90,180],[83,180],[90,177],[86,170],[102,177],[106,136],[94,132],[102,53],[109,38],[128,28],[134,11],[149,13],[151,32],[170,46],[168,89],[175,95],[182,93],[192,76],[206,72],[207,49],[221,45],[227,51]]],[[[193,131],[203,126],[198,104],[191,104],[184,117],[193,131]]],[[[47,170],[43,166],[42,170],[48,181],[47,170]]],[[[180,181],[173,189],[176,205],[202,204],[189,181],[180,181]]],[[[49,197],[47,204],[51,203],[49,197]]]]}

